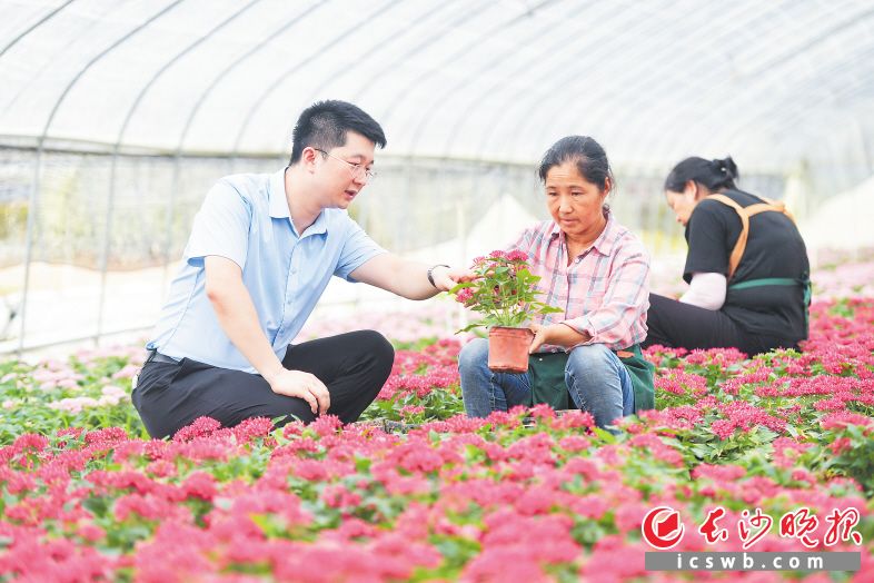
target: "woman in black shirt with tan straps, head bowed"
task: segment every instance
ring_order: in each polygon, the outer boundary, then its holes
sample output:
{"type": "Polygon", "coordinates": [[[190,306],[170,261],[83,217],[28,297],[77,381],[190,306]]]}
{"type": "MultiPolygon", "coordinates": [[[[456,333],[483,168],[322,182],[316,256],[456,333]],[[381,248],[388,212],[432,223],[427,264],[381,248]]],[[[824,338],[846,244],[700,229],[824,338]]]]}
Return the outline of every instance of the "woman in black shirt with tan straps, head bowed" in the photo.
{"type": "Polygon", "coordinates": [[[687,158],[665,180],[667,204],[686,227],[679,300],[649,295],[644,346],[735,347],[753,355],[807,338],[810,264],[782,202],[738,190],[737,166],[687,158]]]}

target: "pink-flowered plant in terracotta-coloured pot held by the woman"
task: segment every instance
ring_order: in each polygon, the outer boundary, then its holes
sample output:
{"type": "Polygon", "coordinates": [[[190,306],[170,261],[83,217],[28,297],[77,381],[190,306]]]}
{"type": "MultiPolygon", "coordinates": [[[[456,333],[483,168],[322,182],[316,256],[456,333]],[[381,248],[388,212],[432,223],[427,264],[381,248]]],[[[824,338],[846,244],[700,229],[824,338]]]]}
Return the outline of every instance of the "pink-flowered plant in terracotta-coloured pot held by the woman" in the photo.
{"type": "Polygon", "coordinates": [[[488,330],[488,367],[499,373],[525,373],[528,348],[534,333],[525,326],[536,314],[562,312],[538,302],[539,276],[528,270],[528,256],[523,251],[491,251],[474,259],[473,281],[458,284],[449,290],[458,302],[483,314],[483,319],[461,328],[467,332],[484,326],[488,330]]]}

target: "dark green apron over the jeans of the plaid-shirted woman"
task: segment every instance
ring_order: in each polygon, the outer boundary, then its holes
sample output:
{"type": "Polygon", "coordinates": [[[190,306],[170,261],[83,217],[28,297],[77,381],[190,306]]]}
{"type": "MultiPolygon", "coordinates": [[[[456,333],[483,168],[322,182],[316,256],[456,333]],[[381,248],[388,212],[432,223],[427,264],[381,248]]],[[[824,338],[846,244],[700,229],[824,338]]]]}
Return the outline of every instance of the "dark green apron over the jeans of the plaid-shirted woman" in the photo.
{"type": "MultiPolygon", "coordinates": [[[[630,353],[630,356],[619,356],[619,360],[632,377],[634,412],[655,408],[655,366],[644,358],[639,344],[624,352],[630,353]]],[[[554,409],[573,406],[565,383],[567,356],[567,353],[543,353],[528,357],[528,374],[532,378],[528,405],[546,403],[554,409]]]]}

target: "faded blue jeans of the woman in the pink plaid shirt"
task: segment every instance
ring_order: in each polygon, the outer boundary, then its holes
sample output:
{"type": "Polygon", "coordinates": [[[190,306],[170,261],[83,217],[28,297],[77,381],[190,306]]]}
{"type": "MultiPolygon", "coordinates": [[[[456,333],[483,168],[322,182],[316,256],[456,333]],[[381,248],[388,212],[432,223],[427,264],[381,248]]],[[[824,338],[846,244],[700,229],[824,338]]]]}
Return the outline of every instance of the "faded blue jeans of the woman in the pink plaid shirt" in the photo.
{"type": "MultiPolygon", "coordinates": [[[[458,355],[461,395],[470,417],[527,405],[532,394],[528,373],[494,373],[488,368],[488,340],[476,338],[458,355]]],[[[598,427],[634,413],[634,388],[625,365],[603,344],[577,346],[567,358],[565,383],[574,404],[588,411],[598,427]]]]}

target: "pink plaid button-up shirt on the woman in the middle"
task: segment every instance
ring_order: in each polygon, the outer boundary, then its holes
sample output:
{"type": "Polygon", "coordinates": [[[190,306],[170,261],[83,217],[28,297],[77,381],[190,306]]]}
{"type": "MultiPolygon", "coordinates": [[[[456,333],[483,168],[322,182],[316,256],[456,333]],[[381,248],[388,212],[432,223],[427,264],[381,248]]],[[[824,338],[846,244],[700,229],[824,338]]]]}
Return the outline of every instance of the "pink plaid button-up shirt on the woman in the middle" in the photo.
{"type": "MultiPolygon", "coordinates": [[[[552,220],[523,231],[507,250],[528,255],[542,302],[564,313],[538,316],[542,324],[565,323],[592,336],[582,344],[605,344],[620,350],[646,338],[649,309],[649,256],[632,233],[607,215],[595,243],[567,264],[565,234],[552,220]]],[[[542,352],[557,352],[544,345],[542,352]]]]}

